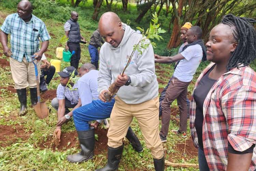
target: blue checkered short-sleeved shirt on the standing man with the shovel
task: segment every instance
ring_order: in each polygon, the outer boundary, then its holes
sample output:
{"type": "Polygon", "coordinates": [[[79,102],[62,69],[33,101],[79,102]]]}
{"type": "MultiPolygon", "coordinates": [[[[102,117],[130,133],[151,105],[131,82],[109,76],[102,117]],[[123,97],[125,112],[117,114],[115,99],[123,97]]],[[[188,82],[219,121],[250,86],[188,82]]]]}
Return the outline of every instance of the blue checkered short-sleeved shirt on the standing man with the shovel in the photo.
{"type": "Polygon", "coordinates": [[[42,41],[51,39],[44,22],[34,15],[29,22],[24,22],[17,13],[10,14],[1,30],[11,33],[11,57],[19,62],[22,62],[24,55],[28,62],[32,61],[32,55],[39,51],[39,37],[42,41]]]}

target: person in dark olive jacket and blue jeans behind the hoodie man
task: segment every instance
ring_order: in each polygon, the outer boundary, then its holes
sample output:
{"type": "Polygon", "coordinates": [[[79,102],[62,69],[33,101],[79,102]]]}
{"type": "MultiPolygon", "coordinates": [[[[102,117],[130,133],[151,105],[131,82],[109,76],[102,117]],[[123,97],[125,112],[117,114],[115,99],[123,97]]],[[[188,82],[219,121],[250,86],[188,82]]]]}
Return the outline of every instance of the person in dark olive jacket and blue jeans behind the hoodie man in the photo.
{"type": "Polygon", "coordinates": [[[101,47],[101,43],[104,43],[104,40],[101,38],[99,29],[93,32],[93,35],[90,38],[90,44],[88,46],[88,50],[91,56],[91,63],[95,65],[96,69],[98,69],[99,63],[99,52],[98,47],[101,47]]]}

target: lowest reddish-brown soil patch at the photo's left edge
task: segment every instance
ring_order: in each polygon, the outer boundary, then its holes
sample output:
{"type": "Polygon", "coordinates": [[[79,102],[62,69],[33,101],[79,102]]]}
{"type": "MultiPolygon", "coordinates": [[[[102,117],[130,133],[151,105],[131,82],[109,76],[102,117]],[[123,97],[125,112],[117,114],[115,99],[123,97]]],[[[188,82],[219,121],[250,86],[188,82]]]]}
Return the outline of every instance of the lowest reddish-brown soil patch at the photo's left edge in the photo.
{"type": "Polygon", "coordinates": [[[21,125],[0,125],[0,147],[6,147],[17,140],[27,140],[30,132],[26,132],[21,125]]]}

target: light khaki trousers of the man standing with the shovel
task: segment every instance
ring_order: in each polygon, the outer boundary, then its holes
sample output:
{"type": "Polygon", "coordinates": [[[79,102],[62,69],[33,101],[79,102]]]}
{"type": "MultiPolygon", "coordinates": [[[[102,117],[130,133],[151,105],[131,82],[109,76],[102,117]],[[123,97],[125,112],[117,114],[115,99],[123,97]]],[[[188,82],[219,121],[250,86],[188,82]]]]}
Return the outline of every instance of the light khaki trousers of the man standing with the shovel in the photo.
{"type": "MultiPolygon", "coordinates": [[[[29,88],[37,87],[35,80],[35,69],[33,62],[27,62],[26,58],[23,57],[22,62],[19,62],[13,58],[10,59],[10,66],[12,72],[12,78],[15,83],[15,89],[22,89],[29,86],[29,88]]],[[[40,82],[40,62],[37,64],[38,78],[40,82]]]]}

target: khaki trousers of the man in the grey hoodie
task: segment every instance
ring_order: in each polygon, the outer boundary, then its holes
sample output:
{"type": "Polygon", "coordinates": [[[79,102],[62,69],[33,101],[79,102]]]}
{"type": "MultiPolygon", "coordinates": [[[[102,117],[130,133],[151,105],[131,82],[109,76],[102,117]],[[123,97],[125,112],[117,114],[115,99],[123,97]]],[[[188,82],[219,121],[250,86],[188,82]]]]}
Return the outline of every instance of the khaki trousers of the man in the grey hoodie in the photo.
{"type": "Polygon", "coordinates": [[[110,115],[108,130],[108,146],[117,148],[123,144],[129,125],[136,117],[144,136],[146,147],[150,149],[153,158],[163,157],[163,146],[159,136],[159,100],[148,100],[140,104],[126,104],[119,97],[115,97],[115,104],[110,115]]]}

